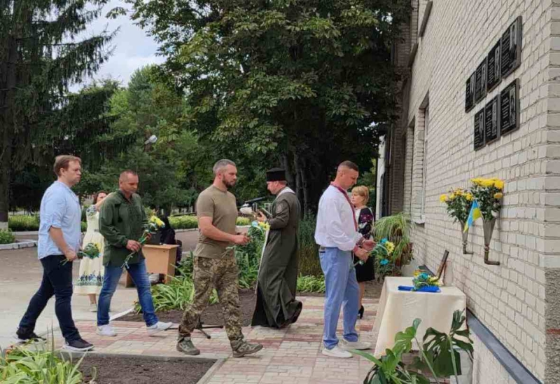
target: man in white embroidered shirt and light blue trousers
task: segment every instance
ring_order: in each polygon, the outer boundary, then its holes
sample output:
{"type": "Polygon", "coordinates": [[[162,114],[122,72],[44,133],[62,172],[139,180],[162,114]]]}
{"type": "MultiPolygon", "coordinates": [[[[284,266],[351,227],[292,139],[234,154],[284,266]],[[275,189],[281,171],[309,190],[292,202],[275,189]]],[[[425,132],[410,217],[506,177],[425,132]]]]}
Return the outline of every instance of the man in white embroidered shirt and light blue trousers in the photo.
{"type": "Polygon", "coordinates": [[[362,260],[373,249],[372,240],[364,240],[358,232],[353,206],[346,191],[356,184],[358,166],[344,161],[338,166],[337,177],[325,190],[317,214],[315,242],[320,246],[321,269],[325,274],[325,326],[323,355],[349,358],[347,350],[367,350],[370,343],[358,341],[359,287],[356,270],[352,268],[352,252],[362,260]],[[338,345],[337,323],[344,304],[344,334],[338,345]]]}

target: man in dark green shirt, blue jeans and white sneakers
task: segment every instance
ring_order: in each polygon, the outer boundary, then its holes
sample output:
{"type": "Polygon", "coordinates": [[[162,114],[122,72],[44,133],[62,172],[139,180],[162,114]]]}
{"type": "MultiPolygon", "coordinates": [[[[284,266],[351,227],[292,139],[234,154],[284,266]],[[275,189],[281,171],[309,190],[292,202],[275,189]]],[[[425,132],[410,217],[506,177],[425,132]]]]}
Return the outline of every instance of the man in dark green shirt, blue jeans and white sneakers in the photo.
{"type": "Polygon", "coordinates": [[[148,223],[142,199],[136,193],[138,174],[132,170],[121,173],[118,187],[117,192],[105,198],[99,212],[99,233],[105,238],[103,254],[105,277],[97,305],[96,333],[101,336],[117,335],[109,324],[109,307],[120,275],[123,273],[125,259],[134,252],[126,268],[136,285],[148,335],[153,336],[159,331],[169,329],[172,323],[160,322],[155,315],[146,262],[142,254],[142,246],[137,241],[144,232],[144,224],[148,223]]]}

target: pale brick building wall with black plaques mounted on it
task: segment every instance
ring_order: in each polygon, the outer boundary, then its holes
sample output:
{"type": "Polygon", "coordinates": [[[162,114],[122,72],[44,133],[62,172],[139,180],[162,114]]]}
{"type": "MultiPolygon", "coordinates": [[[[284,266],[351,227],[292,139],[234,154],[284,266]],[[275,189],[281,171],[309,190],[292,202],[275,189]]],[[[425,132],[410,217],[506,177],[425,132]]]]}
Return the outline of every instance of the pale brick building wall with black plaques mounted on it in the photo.
{"type": "MultiPolygon", "coordinates": [[[[419,22],[423,6],[420,1],[419,22]]],[[[426,223],[414,226],[416,262],[435,270],[448,249],[454,284],[468,296],[469,308],[540,380],[545,378],[546,363],[544,270],[560,268],[558,7],[559,0],[455,0],[452,6],[435,1],[426,33],[419,39],[403,119],[404,127],[414,122],[414,146],[412,135],[407,135],[406,146],[413,158],[407,151],[402,191],[403,210],[412,211],[414,218],[422,185],[421,103],[429,92],[426,223]],[[523,18],[521,66],[465,113],[466,79],[519,15],[523,18]],[[514,78],[520,83],[519,130],[475,152],[475,113],[514,78]],[[462,254],[459,225],[453,224],[439,201],[451,187],[469,187],[472,177],[500,177],[506,183],[490,252],[490,259],[500,261],[500,266],[483,262],[481,222],[470,230],[468,247],[475,254],[462,254]]],[[[477,348],[481,346],[477,343],[477,348]]],[[[496,366],[484,351],[477,352],[479,372],[496,366]]],[[[500,381],[499,373],[482,376],[474,383],[509,383],[500,381]]]]}

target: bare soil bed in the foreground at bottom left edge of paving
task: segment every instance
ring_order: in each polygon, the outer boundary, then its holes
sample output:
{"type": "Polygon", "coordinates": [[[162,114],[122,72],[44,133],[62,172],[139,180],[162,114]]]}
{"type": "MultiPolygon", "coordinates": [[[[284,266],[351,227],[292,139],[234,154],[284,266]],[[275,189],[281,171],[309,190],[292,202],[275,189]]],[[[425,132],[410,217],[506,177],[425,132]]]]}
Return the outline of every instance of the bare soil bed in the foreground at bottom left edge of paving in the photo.
{"type": "Polygon", "coordinates": [[[80,371],[91,378],[92,367],[97,369],[96,384],[195,384],[214,362],[162,361],[134,357],[88,355],[80,364],[80,371]]]}

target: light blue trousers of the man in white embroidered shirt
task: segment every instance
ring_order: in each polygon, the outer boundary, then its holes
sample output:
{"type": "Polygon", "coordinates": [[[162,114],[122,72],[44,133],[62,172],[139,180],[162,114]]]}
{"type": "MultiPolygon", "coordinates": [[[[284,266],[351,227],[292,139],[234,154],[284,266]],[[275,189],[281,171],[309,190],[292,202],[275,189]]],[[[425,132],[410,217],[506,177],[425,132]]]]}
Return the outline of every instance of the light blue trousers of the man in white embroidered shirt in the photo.
{"type": "Polygon", "coordinates": [[[338,248],[325,248],[319,252],[321,269],[325,275],[325,328],[323,344],[332,349],[338,344],[337,324],[340,308],[344,305],[344,340],[358,341],[356,321],[360,289],[356,281],[356,270],[352,266],[351,252],[338,248]]]}

